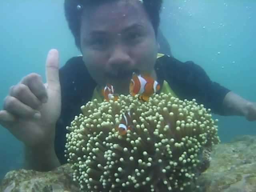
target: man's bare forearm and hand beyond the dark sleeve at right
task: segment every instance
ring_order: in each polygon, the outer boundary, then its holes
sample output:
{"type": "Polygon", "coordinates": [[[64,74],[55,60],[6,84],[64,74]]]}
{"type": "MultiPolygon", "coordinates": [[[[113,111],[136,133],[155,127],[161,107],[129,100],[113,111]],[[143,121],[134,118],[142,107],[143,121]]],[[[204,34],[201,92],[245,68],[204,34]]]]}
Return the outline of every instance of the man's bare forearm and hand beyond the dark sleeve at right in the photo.
{"type": "Polygon", "coordinates": [[[230,91],[223,100],[223,115],[245,116],[248,121],[256,120],[256,103],[250,102],[230,91]]]}

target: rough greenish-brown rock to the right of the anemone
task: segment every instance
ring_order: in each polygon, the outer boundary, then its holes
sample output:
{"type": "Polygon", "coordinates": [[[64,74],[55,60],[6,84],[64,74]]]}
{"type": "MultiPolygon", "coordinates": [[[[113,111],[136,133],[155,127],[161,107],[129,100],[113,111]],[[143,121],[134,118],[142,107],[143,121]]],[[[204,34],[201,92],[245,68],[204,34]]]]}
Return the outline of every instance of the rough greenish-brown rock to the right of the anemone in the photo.
{"type": "Polygon", "coordinates": [[[198,183],[204,192],[256,192],[256,136],[216,145],[198,183]]]}

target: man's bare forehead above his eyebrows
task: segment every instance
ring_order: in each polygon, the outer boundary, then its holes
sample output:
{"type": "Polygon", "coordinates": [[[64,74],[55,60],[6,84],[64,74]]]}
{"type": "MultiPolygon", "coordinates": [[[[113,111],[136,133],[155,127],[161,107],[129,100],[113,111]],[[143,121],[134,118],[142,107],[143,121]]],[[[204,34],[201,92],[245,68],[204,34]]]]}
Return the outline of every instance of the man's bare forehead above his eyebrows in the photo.
{"type": "Polygon", "coordinates": [[[95,10],[90,10],[89,14],[84,14],[82,25],[86,30],[129,28],[136,24],[144,26],[149,21],[142,4],[137,1],[113,1],[102,4],[95,10]]]}

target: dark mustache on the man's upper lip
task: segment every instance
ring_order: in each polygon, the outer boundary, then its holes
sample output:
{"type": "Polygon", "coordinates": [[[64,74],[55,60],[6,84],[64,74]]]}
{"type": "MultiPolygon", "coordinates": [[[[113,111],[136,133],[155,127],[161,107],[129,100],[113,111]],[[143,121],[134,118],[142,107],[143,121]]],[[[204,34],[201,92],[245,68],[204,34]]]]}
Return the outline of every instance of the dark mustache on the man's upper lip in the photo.
{"type": "Polygon", "coordinates": [[[132,77],[132,73],[135,72],[139,74],[138,69],[127,69],[127,68],[114,68],[111,71],[105,73],[106,78],[124,78],[124,77],[132,77]]]}

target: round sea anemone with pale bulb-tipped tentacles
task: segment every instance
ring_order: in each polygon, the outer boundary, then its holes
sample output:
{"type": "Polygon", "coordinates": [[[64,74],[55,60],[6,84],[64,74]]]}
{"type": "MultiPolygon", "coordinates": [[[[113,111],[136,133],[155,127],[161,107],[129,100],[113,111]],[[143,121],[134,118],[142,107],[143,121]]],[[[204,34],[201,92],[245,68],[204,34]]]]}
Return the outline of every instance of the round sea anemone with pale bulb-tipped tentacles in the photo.
{"type": "Polygon", "coordinates": [[[67,127],[66,156],[84,191],[195,191],[219,143],[217,120],[195,100],[156,94],[144,102],[121,95],[81,109],[67,127]],[[126,112],[131,129],[121,136],[115,127],[126,112]]]}

